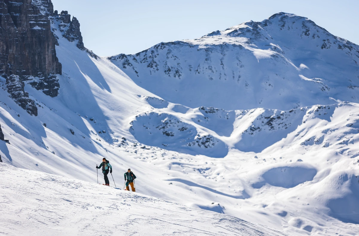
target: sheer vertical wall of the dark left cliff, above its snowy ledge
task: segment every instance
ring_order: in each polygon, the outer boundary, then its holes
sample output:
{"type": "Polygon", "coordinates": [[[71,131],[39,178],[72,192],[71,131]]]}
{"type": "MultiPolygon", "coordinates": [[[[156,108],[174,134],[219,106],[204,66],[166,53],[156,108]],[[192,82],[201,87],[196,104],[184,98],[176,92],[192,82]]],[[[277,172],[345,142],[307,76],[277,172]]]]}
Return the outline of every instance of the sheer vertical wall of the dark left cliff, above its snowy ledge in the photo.
{"type": "Polygon", "coordinates": [[[0,0],[0,75],[61,74],[51,0],[0,0]]]}

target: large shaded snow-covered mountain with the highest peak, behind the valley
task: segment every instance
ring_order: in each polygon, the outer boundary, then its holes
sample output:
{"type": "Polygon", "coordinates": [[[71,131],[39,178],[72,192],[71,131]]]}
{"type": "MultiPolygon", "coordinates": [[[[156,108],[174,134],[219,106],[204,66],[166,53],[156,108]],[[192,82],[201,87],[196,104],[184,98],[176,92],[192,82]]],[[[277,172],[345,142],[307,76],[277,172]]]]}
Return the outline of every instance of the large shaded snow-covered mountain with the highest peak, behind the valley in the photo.
{"type": "Polygon", "coordinates": [[[166,101],[226,110],[358,102],[359,47],[313,21],[278,13],[195,40],[109,59],[166,101]]]}

